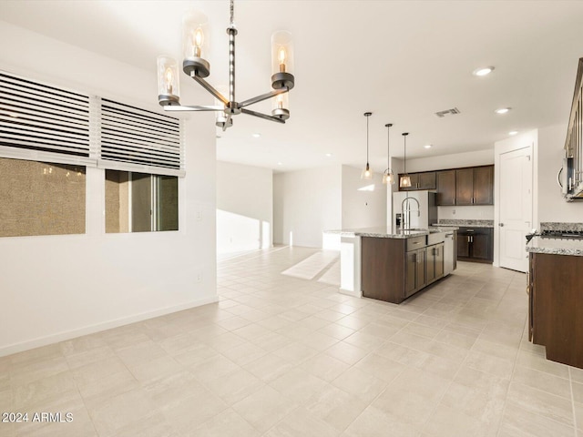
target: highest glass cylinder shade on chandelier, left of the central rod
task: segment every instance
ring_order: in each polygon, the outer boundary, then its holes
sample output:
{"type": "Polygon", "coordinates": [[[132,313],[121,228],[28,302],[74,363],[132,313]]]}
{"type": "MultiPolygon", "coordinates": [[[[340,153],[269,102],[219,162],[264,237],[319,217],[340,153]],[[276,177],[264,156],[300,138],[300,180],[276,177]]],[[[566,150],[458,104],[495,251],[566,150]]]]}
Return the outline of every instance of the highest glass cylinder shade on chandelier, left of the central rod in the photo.
{"type": "Polygon", "coordinates": [[[205,59],[209,54],[209,21],[207,15],[191,11],[182,21],[183,69],[188,75],[194,71],[196,76],[210,75],[210,65],[205,59]]]}

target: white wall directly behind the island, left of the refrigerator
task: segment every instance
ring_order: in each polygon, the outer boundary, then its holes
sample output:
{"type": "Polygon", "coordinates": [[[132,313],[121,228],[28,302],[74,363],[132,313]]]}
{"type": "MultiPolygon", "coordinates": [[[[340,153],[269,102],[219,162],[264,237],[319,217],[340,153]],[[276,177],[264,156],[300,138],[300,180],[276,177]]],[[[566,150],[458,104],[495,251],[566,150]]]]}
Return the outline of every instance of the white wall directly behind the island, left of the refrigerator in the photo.
{"type": "Polygon", "coordinates": [[[363,180],[360,168],[343,166],[342,171],[342,228],[385,226],[387,195],[383,174],[376,173],[373,180],[363,180]]]}

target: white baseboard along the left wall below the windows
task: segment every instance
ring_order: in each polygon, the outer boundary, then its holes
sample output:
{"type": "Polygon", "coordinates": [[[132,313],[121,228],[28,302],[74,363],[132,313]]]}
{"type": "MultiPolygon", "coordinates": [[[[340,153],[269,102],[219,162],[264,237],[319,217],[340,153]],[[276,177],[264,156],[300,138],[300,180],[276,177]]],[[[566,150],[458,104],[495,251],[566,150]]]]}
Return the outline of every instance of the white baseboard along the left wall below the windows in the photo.
{"type": "Polygon", "coordinates": [[[189,310],[190,308],[199,307],[201,305],[207,305],[209,303],[214,303],[219,301],[217,295],[210,296],[209,298],[191,300],[187,303],[182,303],[180,305],[175,305],[171,307],[162,308],[159,310],[153,310],[148,312],[142,312],[140,314],[135,314],[133,316],[124,317],[116,320],[108,320],[103,323],[97,323],[95,325],[85,326],[77,330],[67,330],[65,332],[57,332],[56,334],[47,335],[45,337],[39,337],[34,340],[22,341],[20,343],[10,344],[0,347],[0,357],[6,355],[12,355],[13,353],[28,351],[31,349],[39,348],[41,346],[46,346],[49,344],[57,343],[59,341],[71,340],[83,335],[94,334],[102,330],[110,330],[112,328],[118,328],[120,326],[128,325],[130,323],[135,323],[141,320],[153,319],[155,317],[164,316],[172,312],[178,312],[181,310],[189,310]]]}

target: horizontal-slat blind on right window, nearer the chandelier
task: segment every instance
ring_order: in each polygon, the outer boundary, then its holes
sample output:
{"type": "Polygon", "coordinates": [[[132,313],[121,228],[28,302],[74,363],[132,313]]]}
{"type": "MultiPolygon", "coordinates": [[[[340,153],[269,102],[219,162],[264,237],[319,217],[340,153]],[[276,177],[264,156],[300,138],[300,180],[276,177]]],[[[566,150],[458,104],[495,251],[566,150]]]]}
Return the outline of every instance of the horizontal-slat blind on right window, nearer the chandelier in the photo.
{"type": "Polygon", "coordinates": [[[184,176],[180,120],[101,99],[99,167],[184,176]]]}

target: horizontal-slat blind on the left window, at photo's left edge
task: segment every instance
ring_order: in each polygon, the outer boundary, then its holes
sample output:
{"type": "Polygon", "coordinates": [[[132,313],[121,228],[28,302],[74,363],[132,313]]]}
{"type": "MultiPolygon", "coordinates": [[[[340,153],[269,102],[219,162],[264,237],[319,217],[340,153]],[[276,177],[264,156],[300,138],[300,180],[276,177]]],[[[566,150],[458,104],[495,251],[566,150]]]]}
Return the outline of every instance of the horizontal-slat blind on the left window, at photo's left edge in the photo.
{"type": "Polygon", "coordinates": [[[7,158],[90,164],[89,97],[0,72],[0,147],[7,158]]]}

